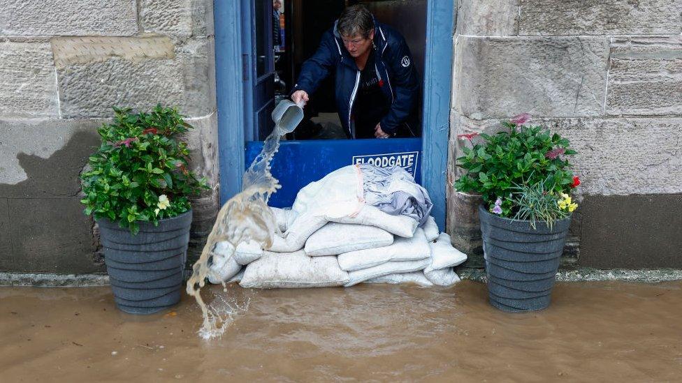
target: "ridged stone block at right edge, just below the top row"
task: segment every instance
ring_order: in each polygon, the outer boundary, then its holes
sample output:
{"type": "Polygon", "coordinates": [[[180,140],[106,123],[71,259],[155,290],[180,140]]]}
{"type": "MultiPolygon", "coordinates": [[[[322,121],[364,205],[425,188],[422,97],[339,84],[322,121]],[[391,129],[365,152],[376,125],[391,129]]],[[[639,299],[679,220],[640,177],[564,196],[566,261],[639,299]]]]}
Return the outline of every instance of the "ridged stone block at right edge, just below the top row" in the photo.
{"type": "Polygon", "coordinates": [[[682,38],[614,38],[606,111],[682,114],[682,38]]]}

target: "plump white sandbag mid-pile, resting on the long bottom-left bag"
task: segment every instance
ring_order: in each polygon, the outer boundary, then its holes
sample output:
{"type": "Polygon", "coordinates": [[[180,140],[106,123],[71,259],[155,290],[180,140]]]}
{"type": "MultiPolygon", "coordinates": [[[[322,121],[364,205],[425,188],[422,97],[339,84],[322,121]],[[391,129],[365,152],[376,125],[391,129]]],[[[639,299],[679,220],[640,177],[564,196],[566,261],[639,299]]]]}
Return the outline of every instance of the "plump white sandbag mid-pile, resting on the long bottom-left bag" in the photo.
{"type": "Polygon", "coordinates": [[[393,243],[393,234],[379,227],[330,222],[305,241],[305,254],[338,255],[353,250],[381,248],[393,243]]]}

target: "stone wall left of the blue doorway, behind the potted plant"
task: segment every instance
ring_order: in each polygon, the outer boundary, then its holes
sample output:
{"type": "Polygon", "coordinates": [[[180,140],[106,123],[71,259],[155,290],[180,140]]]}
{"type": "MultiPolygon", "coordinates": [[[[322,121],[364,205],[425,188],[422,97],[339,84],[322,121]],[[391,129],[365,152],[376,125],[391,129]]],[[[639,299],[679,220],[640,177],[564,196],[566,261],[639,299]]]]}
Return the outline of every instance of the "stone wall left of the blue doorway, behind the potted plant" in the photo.
{"type": "Polygon", "coordinates": [[[219,204],[212,23],[210,0],[0,0],[0,271],[104,271],[78,177],[113,106],[195,127],[201,246],[219,204]]]}

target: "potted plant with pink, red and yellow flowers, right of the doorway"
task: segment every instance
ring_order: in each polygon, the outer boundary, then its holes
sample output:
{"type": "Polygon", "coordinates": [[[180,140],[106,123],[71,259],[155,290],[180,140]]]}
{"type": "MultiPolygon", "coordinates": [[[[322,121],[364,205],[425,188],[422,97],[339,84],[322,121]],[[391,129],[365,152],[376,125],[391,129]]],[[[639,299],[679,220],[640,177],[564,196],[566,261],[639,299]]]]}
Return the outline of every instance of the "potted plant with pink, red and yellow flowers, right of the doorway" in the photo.
{"type": "MultiPolygon", "coordinates": [[[[457,158],[466,174],[455,188],[481,195],[479,206],[488,296],[507,311],[549,306],[579,185],[568,157],[569,141],[542,126],[525,126],[521,114],[504,130],[481,133],[482,142],[457,158]]],[[[474,133],[476,135],[476,133],[474,133]]],[[[471,140],[471,139],[470,139],[471,140]]]]}

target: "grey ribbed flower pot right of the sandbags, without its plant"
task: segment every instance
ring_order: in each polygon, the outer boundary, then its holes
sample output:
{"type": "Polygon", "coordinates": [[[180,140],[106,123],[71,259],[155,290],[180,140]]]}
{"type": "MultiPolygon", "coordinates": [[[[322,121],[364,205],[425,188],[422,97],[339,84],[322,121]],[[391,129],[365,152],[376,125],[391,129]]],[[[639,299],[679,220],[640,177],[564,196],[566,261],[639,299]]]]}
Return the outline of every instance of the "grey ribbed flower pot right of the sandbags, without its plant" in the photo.
{"type": "Polygon", "coordinates": [[[479,217],[491,305],[512,312],[549,306],[571,218],[533,229],[529,221],[495,216],[484,206],[479,217]]]}

